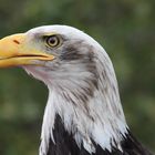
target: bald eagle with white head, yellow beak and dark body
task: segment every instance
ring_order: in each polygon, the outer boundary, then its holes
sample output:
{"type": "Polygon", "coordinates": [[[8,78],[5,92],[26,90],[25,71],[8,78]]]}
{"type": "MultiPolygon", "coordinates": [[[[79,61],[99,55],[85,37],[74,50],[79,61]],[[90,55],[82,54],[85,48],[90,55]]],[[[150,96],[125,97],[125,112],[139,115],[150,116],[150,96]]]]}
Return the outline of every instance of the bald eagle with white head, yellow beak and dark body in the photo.
{"type": "Polygon", "coordinates": [[[44,25],[0,40],[0,68],[49,89],[39,155],[151,155],[126,124],[113,64],[90,35],[44,25]]]}

